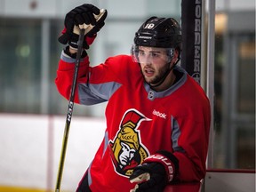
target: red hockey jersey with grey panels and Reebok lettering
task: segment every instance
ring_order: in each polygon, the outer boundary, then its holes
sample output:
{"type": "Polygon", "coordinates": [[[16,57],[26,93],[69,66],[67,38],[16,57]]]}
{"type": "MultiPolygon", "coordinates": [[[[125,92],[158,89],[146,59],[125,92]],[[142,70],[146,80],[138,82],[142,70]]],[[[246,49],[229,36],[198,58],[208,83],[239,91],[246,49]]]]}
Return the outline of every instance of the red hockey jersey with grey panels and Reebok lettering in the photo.
{"type": "MultiPolygon", "coordinates": [[[[69,99],[75,60],[62,53],[56,84],[69,99]]],[[[132,169],[147,156],[164,149],[179,160],[175,180],[198,181],[205,175],[210,129],[210,104],[203,89],[180,67],[180,80],[164,92],[144,82],[138,63],[119,55],[89,67],[81,60],[76,103],[108,101],[107,128],[92,164],[88,182],[93,192],[134,188],[132,169]]],[[[86,148],[86,146],[84,146],[86,148]]]]}

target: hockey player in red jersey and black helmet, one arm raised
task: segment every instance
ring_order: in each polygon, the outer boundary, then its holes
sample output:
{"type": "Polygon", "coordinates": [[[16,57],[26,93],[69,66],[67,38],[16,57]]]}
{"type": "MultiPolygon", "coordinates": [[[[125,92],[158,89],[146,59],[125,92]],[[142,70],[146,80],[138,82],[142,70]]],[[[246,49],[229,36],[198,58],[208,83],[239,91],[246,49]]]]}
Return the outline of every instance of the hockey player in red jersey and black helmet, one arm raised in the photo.
{"type": "Polygon", "coordinates": [[[177,63],[180,25],[172,18],[151,17],[134,37],[131,55],[89,66],[86,50],[105,24],[107,12],[83,4],[68,12],[59,38],[61,53],[56,85],[68,99],[76,58],[77,25],[92,24],[84,51],[75,102],[108,101],[107,128],[92,164],[76,191],[164,191],[174,182],[199,181],[205,175],[210,105],[202,88],[177,63]]]}

